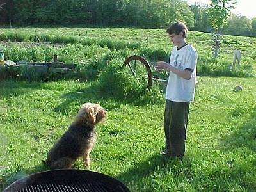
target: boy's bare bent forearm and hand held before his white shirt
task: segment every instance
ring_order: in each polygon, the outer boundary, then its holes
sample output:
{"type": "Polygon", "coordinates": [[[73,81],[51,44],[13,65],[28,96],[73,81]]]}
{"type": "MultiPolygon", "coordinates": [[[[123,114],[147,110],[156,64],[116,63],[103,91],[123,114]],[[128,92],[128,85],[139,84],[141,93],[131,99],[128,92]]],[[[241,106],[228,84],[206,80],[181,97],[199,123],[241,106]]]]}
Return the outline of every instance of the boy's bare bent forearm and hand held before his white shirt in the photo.
{"type": "Polygon", "coordinates": [[[189,80],[191,78],[192,72],[191,70],[179,70],[178,68],[173,67],[172,65],[169,65],[169,63],[166,63],[164,61],[159,61],[155,65],[156,70],[166,70],[168,72],[173,72],[177,74],[177,76],[180,76],[184,79],[189,80]]]}

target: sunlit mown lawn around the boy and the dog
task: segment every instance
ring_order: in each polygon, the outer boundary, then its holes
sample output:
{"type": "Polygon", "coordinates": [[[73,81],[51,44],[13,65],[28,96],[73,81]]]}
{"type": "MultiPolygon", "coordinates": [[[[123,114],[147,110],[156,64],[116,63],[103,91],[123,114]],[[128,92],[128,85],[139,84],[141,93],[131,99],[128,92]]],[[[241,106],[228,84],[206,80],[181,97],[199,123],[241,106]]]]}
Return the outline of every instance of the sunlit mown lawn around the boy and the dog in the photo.
{"type": "MultiPolygon", "coordinates": [[[[97,127],[92,170],[131,191],[252,191],[256,188],[255,85],[250,78],[201,77],[189,114],[184,161],[164,159],[161,104],[106,97],[95,83],[0,83],[2,188],[44,170],[42,160],[83,102],[108,109],[97,127]],[[242,92],[233,92],[237,84],[242,92]],[[92,87],[94,88],[92,89],[92,87]],[[83,91],[84,93],[77,93],[83,91]]],[[[84,168],[77,161],[76,168],[84,168]]]]}

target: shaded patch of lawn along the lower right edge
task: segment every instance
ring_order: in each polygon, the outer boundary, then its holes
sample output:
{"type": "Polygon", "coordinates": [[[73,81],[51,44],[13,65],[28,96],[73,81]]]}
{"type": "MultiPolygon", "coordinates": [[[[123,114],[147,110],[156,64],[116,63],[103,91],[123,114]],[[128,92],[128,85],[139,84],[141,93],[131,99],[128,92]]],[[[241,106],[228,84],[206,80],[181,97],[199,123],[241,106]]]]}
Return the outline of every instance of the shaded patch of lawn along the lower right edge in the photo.
{"type": "MultiPolygon", "coordinates": [[[[226,166],[216,168],[212,171],[212,176],[216,179],[218,186],[225,186],[223,180],[218,179],[220,175],[225,175],[225,182],[233,180],[234,183],[241,186],[245,191],[255,191],[255,152],[256,152],[256,108],[252,108],[251,116],[241,127],[225,136],[220,141],[220,149],[228,154],[226,166]],[[230,155],[229,155],[230,154],[230,155]]],[[[236,189],[235,189],[236,191],[236,189]]]]}

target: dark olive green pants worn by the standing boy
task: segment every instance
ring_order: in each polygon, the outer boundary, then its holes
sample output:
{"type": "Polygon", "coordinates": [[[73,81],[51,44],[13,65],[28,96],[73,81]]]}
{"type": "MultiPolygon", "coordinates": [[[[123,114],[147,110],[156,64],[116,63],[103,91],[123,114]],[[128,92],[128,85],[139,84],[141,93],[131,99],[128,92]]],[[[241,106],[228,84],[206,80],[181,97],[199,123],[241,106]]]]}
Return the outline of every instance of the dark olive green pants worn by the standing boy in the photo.
{"type": "Polygon", "coordinates": [[[189,102],[166,100],[164,111],[165,152],[182,158],[185,153],[189,102]]]}

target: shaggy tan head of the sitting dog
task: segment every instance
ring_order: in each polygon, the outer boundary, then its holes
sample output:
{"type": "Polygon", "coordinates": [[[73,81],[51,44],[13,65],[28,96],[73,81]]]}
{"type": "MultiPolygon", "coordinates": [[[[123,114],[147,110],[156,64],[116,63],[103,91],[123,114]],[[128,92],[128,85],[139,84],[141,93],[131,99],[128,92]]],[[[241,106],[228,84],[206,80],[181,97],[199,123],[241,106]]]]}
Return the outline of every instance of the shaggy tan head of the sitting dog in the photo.
{"type": "Polygon", "coordinates": [[[93,126],[102,122],[106,118],[106,115],[106,109],[102,108],[99,104],[86,102],[78,111],[76,122],[93,126]]]}

